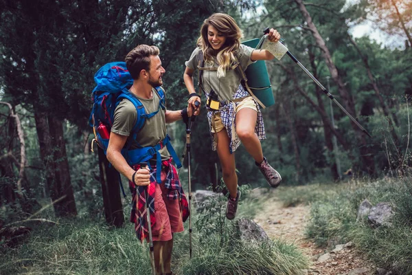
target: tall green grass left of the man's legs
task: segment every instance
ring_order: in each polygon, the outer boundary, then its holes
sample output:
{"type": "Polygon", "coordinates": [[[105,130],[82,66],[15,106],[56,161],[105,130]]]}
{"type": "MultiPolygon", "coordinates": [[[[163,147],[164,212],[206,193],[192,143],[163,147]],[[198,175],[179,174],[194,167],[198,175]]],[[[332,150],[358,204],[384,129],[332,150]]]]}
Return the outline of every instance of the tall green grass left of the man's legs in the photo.
{"type": "Polygon", "coordinates": [[[1,252],[0,274],[150,274],[148,250],[130,228],[84,220],[34,230],[30,241],[1,252]]]}

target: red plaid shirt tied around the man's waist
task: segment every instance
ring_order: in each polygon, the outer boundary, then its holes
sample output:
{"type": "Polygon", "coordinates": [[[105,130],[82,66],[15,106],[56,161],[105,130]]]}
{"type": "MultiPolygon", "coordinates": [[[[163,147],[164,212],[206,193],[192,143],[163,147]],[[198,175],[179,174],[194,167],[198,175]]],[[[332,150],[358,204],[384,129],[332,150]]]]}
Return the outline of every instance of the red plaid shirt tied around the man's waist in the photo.
{"type": "MultiPolygon", "coordinates": [[[[155,166],[153,166],[155,167],[155,166]]],[[[133,169],[138,170],[140,164],[133,166],[133,169]]],[[[185,192],[181,186],[179,175],[176,168],[172,165],[172,159],[164,160],[161,169],[166,173],[165,188],[168,189],[166,197],[168,199],[179,199],[182,210],[183,221],[189,217],[189,203],[187,203],[185,192]]],[[[143,242],[148,237],[148,221],[146,217],[146,190],[148,190],[148,203],[150,212],[150,223],[152,228],[156,223],[155,217],[155,189],[156,168],[150,170],[150,184],[148,186],[135,186],[129,181],[130,190],[133,193],[132,197],[132,212],[130,214],[130,222],[135,223],[135,232],[137,238],[143,242]]]]}

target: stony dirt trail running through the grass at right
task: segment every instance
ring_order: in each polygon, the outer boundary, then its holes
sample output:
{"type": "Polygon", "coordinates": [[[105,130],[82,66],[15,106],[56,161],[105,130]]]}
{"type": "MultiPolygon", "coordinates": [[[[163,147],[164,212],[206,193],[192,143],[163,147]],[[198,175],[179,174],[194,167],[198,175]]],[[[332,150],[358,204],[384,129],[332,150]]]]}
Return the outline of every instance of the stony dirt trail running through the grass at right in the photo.
{"type": "Polygon", "coordinates": [[[336,250],[331,252],[317,248],[312,241],[306,240],[304,230],[309,221],[310,206],[284,208],[276,193],[271,192],[271,194],[273,196],[268,197],[264,210],[255,217],[254,221],[262,226],[271,239],[282,239],[287,243],[295,243],[301,248],[312,261],[306,274],[375,274],[376,267],[358,254],[351,243],[342,247],[336,246],[336,250]]]}

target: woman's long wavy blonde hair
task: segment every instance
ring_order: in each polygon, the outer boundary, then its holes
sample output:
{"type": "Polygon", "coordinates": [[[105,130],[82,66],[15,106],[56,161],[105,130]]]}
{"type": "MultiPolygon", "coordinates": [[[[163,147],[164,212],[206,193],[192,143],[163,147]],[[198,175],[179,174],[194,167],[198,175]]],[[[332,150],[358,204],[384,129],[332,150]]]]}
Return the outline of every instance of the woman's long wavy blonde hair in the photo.
{"type": "Polygon", "coordinates": [[[201,27],[201,36],[199,36],[197,45],[201,47],[203,58],[205,61],[213,63],[212,54],[213,48],[207,39],[207,28],[212,25],[218,32],[226,37],[225,44],[222,45],[216,59],[218,60],[218,78],[226,76],[226,71],[229,69],[233,61],[235,61],[234,52],[238,50],[240,39],[243,37],[242,30],[240,30],[236,21],[228,14],[214,13],[203,22],[201,27]]]}

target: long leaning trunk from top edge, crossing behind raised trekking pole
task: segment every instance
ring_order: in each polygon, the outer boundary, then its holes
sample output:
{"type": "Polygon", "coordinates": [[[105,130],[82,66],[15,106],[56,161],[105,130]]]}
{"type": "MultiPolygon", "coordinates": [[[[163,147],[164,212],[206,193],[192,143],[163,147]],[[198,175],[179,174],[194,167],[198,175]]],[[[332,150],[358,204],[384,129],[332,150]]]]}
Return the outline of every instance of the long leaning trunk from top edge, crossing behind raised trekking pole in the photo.
{"type": "MultiPolygon", "coordinates": [[[[352,115],[356,116],[354,99],[349,94],[349,92],[346,90],[345,85],[343,84],[343,80],[341,79],[341,76],[339,76],[338,70],[336,69],[332,61],[332,56],[328,50],[328,47],[326,47],[325,45],[325,41],[323,41],[322,36],[319,34],[316,26],[312,22],[312,18],[310,17],[308,10],[306,10],[306,6],[302,2],[302,0],[295,0],[295,2],[297,3],[299,10],[301,10],[301,13],[304,16],[304,19],[306,23],[308,24],[308,28],[310,28],[310,30],[312,31],[312,36],[316,40],[318,47],[321,49],[322,56],[325,59],[326,65],[328,66],[330,75],[332,76],[334,82],[338,86],[339,95],[343,99],[343,102],[345,103],[345,107],[347,111],[351,113],[352,115]]],[[[352,122],[352,120],[351,120],[351,125],[352,125],[352,128],[354,129],[356,141],[359,145],[358,148],[361,153],[361,159],[362,159],[361,169],[365,171],[368,175],[374,176],[376,174],[374,157],[373,157],[373,154],[369,150],[369,146],[366,142],[365,135],[363,131],[361,131],[361,129],[359,129],[358,126],[354,122],[352,122]]]]}

